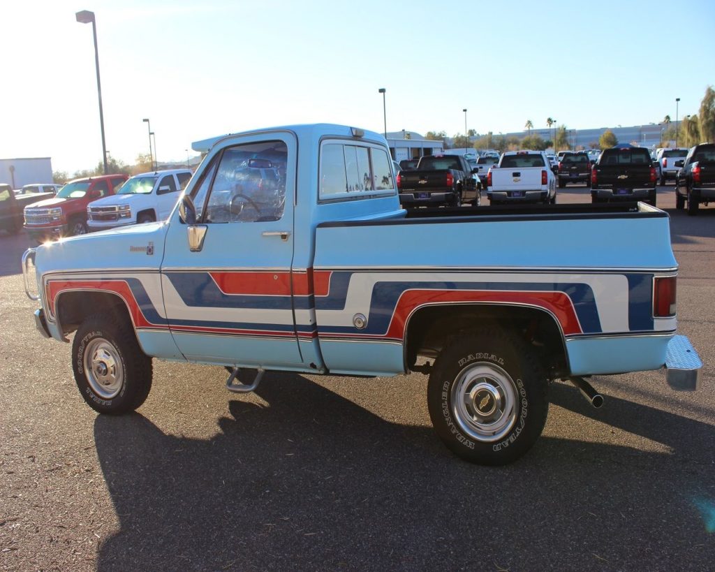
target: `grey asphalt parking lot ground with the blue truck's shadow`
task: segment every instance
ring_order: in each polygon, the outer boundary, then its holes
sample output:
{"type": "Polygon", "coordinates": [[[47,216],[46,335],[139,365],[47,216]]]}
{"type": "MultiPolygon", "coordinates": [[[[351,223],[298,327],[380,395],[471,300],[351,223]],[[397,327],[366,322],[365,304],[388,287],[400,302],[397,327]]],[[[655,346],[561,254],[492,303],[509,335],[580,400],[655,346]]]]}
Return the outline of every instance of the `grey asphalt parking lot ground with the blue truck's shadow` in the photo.
{"type": "MultiPolygon", "coordinates": [[[[590,195],[569,186],[558,201],[590,195]]],[[[658,204],[701,390],[600,376],[596,410],[556,383],[541,440],[503,468],[443,447],[420,374],[267,373],[235,395],[222,368],[155,361],[137,413],[97,415],[69,345],[34,329],[26,235],[0,236],[0,567],[712,570],[715,208],[687,217],[672,185],[658,204]]]]}

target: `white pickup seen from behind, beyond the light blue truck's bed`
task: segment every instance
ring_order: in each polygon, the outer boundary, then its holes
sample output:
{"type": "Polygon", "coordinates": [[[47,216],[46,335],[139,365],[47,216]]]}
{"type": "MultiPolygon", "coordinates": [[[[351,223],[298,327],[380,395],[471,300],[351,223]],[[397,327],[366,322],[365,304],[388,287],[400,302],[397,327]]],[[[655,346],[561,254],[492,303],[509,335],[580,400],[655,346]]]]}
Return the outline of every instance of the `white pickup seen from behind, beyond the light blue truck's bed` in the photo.
{"type": "Polygon", "coordinates": [[[556,203],[556,175],[543,151],[508,151],[487,173],[490,204],[556,203]]]}

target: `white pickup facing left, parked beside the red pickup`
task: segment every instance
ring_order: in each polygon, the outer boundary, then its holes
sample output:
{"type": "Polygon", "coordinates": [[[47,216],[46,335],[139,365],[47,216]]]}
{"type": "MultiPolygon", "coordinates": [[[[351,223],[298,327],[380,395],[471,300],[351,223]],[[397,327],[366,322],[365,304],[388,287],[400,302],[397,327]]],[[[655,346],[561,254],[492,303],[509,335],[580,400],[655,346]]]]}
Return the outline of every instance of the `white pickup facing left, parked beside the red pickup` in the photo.
{"type": "Polygon", "coordinates": [[[166,220],[186,188],[189,169],[166,169],[134,175],[116,194],[87,205],[90,231],[166,220]]]}

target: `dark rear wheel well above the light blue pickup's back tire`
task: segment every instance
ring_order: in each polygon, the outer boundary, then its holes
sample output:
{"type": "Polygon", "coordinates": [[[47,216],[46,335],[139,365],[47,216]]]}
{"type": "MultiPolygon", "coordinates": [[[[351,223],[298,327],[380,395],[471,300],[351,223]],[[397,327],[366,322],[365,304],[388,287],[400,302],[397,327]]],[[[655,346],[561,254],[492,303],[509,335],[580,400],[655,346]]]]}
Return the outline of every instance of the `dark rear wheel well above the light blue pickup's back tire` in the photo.
{"type": "Polygon", "coordinates": [[[405,327],[407,368],[418,356],[436,358],[448,337],[458,332],[499,327],[539,348],[538,355],[551,378],[570,370],[566,345],[556,317],[546,310],[518,305],[458,304],[420,308],[405,327]]]}

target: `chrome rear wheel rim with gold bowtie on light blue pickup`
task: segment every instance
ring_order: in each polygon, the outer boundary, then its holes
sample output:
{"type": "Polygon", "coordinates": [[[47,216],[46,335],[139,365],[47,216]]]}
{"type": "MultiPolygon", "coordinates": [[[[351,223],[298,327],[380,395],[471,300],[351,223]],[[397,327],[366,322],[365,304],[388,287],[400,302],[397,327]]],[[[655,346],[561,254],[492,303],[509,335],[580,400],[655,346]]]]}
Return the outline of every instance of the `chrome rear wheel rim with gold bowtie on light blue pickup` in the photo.
{"type": "Polygon", "coordinates": [[[475,440],[498,441],[516,423],[516,383],[497,365],[476,363],[462,370],[450,397],[455,421],[475,440]]]}

